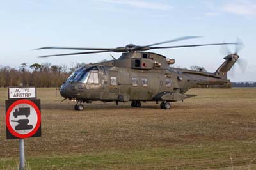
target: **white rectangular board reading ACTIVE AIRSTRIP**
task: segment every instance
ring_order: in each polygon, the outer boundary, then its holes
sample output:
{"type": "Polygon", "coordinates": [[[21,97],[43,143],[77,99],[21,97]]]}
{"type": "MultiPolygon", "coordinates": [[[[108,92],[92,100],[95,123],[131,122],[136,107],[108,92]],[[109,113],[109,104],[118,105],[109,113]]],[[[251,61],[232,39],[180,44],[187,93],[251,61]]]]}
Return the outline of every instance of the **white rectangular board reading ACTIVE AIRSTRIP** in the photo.
{"type": "Polygon", "coordinates": [[[36,98],[36,88],[9,88],[9,99],[36,98]]]}

